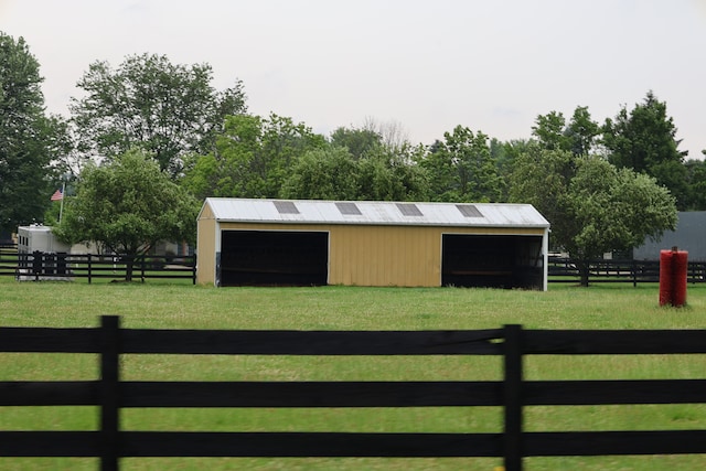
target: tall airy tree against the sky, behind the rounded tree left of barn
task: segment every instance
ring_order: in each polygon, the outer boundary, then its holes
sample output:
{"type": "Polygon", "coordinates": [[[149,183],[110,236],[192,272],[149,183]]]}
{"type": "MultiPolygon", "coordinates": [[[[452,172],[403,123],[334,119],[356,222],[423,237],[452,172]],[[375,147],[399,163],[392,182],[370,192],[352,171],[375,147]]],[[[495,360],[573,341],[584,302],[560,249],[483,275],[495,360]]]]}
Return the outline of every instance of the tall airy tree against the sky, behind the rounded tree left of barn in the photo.
{"type": "Polygon", "coordinates": [[[216,92],[207,64],[174,65],[164,55],[128,56],[117,69],[90,64],[72,98],[81,149],[113,159],[140,147],[178,175],[186,153],[214,150],[226,116],[246,111],[243,84],[216,92]]]}

